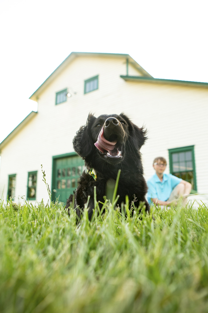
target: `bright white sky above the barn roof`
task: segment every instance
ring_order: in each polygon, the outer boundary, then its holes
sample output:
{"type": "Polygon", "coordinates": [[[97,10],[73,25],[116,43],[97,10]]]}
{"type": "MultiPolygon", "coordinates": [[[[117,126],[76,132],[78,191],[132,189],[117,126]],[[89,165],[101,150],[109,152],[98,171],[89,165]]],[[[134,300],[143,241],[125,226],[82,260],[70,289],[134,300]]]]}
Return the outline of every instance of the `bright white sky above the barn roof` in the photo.
{"type": "Polygon", "coordinates": [[[208,82],[207,0],[0,0],[0,142],[72,52],[127,53],[155,78],[208,82]]]}

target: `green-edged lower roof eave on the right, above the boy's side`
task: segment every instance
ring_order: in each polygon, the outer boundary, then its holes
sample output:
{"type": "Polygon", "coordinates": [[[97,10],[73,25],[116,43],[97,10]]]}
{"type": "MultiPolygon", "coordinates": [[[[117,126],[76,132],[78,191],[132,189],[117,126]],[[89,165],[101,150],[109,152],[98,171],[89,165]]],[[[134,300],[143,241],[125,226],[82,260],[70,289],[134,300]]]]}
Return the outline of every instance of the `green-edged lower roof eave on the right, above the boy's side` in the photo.
{"type": "Polygon", "coordinates": [[[185,85],[190,87],[202,87],[208,88],[208,83],[203,83],[199,81],[188,81],[188,80],[172,80],[172,79],[161,79],[153,77],[144,76],[124,76],[120,75],[125,81],[136,81],[136,82],[146,82],[154,84],[167,84],[167,85],[185,85]]]}

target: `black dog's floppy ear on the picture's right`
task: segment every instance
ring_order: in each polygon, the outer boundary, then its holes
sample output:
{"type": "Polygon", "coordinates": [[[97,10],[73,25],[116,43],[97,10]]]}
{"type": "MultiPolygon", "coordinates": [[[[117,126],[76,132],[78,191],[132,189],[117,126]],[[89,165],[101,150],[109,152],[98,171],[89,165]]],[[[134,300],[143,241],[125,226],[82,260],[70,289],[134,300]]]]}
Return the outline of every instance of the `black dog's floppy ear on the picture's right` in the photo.
{"type": "Polygon", "coordinates": [[[147,130],[144,129],[144,126],[139,128],[135,124],[133,124],[128,116],[126,116],[124,113],[120,114],[121,117],[128,123],[128,131],[129,131],[129,138],[128,141],[134,149],[137,151],[140,150],[141,146],[145,143],[147,140],[147,130]]]}

